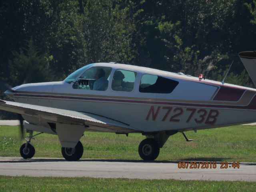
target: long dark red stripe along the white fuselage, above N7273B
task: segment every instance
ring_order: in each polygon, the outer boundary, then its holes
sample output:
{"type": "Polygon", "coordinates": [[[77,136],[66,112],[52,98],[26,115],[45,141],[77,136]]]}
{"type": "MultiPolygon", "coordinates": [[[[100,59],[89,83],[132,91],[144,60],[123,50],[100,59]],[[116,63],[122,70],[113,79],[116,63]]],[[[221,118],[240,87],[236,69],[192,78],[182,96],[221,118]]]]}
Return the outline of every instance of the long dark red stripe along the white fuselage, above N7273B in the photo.
{"type": "Polygon", "coordinates": [[[192,107],[232,108],[232,109],[256,110],[256,96],[253,97],[252,101],[247,106],[220,105],[220,104],[193,104],[193,103],[178,103],[178,102],[124,100],[124,99],[89,98],[89,97],[73,97],[73,96],[54,96],[54,95],[35,95],[35,94],[14,94],[14,96],[36,97],[36,98],[43,98],[43,99],[56,98],[56,99],[86,100],[86,101],[106,101],[106,102],[141,103],[141,104],[172,105],[172,106],[192,106],[192,107]]]}

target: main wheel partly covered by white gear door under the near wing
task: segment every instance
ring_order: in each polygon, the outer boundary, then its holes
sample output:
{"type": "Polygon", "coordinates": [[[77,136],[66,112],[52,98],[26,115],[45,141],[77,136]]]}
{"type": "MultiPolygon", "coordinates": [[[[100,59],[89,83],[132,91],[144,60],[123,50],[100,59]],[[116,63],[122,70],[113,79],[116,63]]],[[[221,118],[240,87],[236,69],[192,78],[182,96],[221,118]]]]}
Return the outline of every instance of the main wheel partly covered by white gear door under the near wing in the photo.
{"type": "Polygon", "coordinates": [[[77,161],[79,160],[83,153],[84,147],[80,141],[76,144],[75,148],[62,147],[61,148],[62,156],[68,161],[77,161]]]}

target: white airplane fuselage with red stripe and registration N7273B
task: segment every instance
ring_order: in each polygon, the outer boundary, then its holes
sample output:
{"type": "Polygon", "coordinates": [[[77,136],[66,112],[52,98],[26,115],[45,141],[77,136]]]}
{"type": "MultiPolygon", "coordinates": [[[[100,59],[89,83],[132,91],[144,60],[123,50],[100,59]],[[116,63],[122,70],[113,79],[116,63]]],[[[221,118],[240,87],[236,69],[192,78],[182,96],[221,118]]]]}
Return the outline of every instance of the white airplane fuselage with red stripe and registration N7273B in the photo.
{"type": "Polygon", "coordinates": [[[99,63],[112,68],[105,91],[75,89],[72,84],[48,82],[15,88],[16,102],[89,112],[129,124],[142,132],[193,130],[254,122],[256,90],[210,80],[123,64],[99,63]],[[137,73],[131,92],[112,90],[118,69],[137,73]],[[143,74],[178,81],[170,94],[139,92],[143,74]]]}

